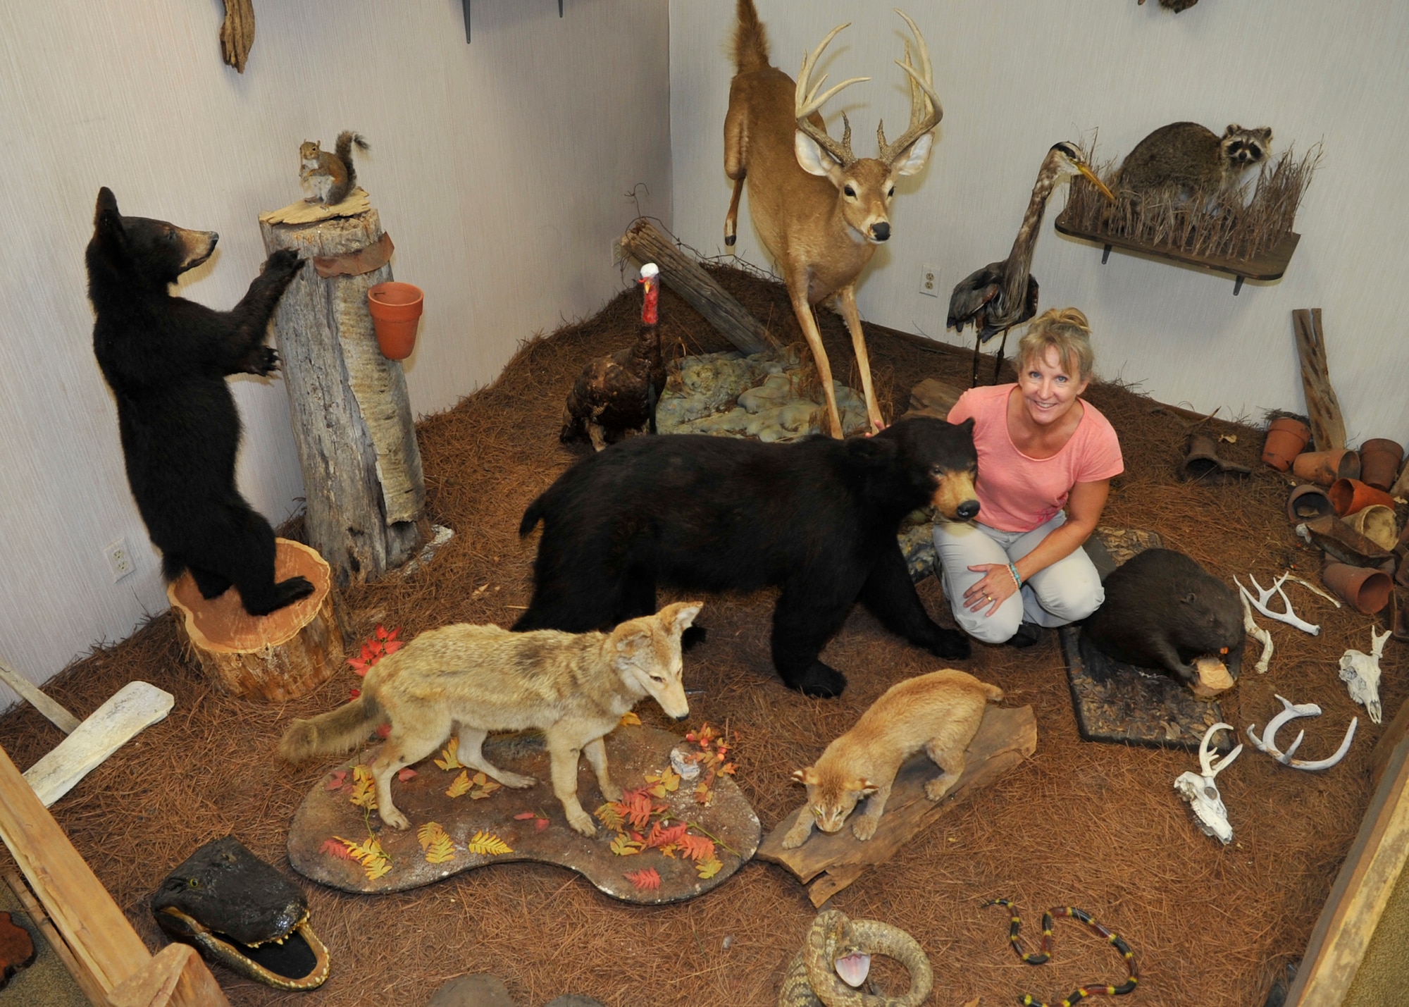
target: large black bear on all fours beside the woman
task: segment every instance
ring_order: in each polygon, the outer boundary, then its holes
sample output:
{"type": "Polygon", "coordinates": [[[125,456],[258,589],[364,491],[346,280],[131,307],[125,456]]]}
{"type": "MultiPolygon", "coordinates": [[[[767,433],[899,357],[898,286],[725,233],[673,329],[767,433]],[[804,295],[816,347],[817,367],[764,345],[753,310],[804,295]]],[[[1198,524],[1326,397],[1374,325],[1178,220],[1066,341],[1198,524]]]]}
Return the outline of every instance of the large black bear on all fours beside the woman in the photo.
{"type": "Polygon", "coordinates": [[[655,611],[655,585],[782,588],[774,664],[807,695],[845,677],[817,660],[861,601],[930,653],[968,657],[962,633],[930,619],[896,542],[900,520],[934,505],[978,513],[972,420],[907,419],[875,437],[795,444],[672,434],[638,437],[579,461],[524,512],[542,520],[533,602],[514,629],[585,632],[655,611]]]}

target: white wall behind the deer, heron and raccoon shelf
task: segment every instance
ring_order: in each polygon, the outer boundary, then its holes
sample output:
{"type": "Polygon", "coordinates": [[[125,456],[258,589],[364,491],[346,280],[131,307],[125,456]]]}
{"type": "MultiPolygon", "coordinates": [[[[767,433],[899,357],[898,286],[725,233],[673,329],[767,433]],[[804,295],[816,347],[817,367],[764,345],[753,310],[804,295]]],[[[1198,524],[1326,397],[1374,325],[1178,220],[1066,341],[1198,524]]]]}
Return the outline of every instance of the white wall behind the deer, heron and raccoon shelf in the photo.
{"type": "MultiPolygon", "coordinates": [[[[874,157],[875,124],[907,121],[903,23],[892,0],[757,0],[772,62],[796,75],[806,49],[836,24],[823,71],[831,82],[871,76],[826,110],[840,135],[874,157]]],[[[1324,159],[1298,216],[1301,247],[1281,282],[1247,283],[1058,236],[1048,206],[1033,274],[1043,307],[1076,305],[1095,329],[1098,371],[1140,382],[1165,402],[1261,419],[1301,412],[1291,312],[1324,309],[1330,372],[1346,425],[1364,437],[1409,440],[1403,354],[1405,236],[1409,234],[1409,4],[1310,0],[1206,0],[1179,14],[1150,0],[906,0],[934,58],[944,120],[929,166],[902,179],[895,237],[862,275],[864,317],[972,346],[944,333],[948,292],[1007,255],[1037,168],[1060,140],[1099,128],[1098,159],[1123,155],[1165,123],[1271,126],[1274,145],[1324,159]],[[938,267],[943,296],[917,293],[920,269],[938,267]]],[[[671,3],[671,148],[675,231],[702,252],[723,248],[730,182],[723,123],[733,62],[733,0],[671,3]]],[[[747,205],[747,196],[745,196],[747,205]]],[[[747,214],[741,213],[741,217],[747,214]]],[[[766,265],[751,223],[738,252],[766,265]]],[[[991,344],[993,348],[996,344],[991,344]]],[[[1010,344],[1012,346],[1012,344],[1010,344]]]]}

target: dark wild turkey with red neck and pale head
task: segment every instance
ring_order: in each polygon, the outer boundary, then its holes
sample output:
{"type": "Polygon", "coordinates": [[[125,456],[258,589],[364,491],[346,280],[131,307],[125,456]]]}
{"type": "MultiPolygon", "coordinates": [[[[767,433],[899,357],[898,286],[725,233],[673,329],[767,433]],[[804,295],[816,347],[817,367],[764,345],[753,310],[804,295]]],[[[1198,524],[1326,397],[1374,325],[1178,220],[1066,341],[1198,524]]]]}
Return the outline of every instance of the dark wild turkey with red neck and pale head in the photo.
{"type": "Polygon", "coordinates": [[[635,344],[589,361],[568,392],[562,433],[558,434],[562,443],[586,436],[600,451],[628,434],[647,429],[655,433],[655,402],[665,388],[665,364],[657,330],[659,272],[654,262],[641,267],[645,300],[635,344]]]}

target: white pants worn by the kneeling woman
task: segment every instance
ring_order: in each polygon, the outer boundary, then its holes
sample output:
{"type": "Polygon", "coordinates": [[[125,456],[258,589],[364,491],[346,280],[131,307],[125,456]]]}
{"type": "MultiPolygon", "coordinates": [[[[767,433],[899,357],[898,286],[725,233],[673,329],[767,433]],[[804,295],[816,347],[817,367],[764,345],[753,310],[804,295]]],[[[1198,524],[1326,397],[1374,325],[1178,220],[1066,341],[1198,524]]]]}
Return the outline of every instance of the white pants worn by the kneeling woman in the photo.
{"type": "Polygon", "coordinates": [[[964,608],[964,592],[983,578],[982,573],[969,570],[971,566],[1019,560],[1065,523],[1067,515],[1061,511],[1031,532],[1000,532],[978,522],[934,523],[944,597],[950,599],[954,621],[965,633],[985,643],[1002,643],[1023,622],[1065,626],[1085,619],[1100,606],[1106,599],[1100,575],[1086,550],[1076,549],[1033,574],[1023,582],[1023,590],[1005,598],[993,615],[986,614],[992,605],[978,611],[964,608]]]}

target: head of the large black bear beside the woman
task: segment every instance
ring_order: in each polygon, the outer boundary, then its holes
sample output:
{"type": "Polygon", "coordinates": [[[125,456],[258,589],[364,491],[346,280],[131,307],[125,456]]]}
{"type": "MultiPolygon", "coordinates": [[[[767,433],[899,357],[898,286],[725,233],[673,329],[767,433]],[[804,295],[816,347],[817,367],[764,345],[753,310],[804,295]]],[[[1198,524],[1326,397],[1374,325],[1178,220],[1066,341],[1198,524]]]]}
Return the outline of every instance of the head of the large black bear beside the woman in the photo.
{"type": "Polygon", "coordinates": [[[978,515],[972,419],[945,423],[931,416],[912,416],[859,443],[899,463],[910,487],[923,495],[916,506],[933,506],[945,520],[968,520],[978,515]]]}

